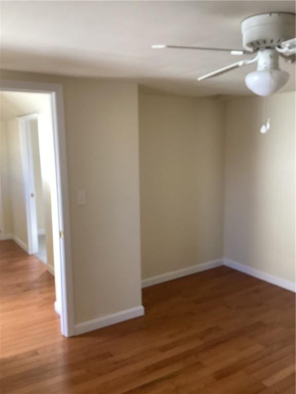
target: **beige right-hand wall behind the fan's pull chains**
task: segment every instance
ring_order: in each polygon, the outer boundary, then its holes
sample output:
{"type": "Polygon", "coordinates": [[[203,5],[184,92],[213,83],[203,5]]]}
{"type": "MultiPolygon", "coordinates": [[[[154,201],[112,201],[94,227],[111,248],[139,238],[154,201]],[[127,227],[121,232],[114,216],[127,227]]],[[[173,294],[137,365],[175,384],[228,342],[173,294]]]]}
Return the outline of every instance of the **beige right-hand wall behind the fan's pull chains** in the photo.
{"type": "Polygon", "coordinates": [[[224,257],[295,280],[295,93],[227,105],[224,257]]]}

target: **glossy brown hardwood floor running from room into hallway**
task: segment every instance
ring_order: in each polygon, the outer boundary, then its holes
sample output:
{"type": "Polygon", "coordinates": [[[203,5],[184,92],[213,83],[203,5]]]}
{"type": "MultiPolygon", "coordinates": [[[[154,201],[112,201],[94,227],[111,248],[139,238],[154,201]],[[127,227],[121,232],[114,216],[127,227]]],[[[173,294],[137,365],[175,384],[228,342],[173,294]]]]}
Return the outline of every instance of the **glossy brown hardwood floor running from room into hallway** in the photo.
{"type": "Polygon", "coordinates": [[[219,267],[143,290],[144,317],[60,335],[53,277],[0,242],[2,394],[294,394],[294,294],[219,267]]]}

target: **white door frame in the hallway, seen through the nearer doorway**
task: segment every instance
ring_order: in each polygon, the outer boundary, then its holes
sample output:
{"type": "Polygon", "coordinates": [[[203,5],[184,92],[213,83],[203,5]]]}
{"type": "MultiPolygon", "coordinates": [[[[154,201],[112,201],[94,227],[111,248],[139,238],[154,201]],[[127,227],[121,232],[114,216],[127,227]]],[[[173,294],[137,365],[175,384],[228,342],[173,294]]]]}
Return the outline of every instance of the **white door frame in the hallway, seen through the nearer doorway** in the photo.
{"type": "Polygon", "coordinates": [[[18,132],[20,133],[22,170],[23,170],[23,190],[25,194],[26,221],[28,235],[28,253],[38,252],[38,230],[36,212],[36,191],[34,180],[34,165],[32,155],[30,121],[37,120],[38,114],[18,116],[18,132]]]}

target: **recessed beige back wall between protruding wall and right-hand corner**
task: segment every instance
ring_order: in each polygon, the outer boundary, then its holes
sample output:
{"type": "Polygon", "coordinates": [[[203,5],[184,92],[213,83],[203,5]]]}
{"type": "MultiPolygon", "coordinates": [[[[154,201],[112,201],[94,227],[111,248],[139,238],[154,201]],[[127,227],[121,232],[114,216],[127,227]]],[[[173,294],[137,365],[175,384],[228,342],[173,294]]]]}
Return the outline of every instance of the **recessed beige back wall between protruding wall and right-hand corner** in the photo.
{"type": "Polygon", "coordinates": [[[142,277],[223,254],[224,103],[140,94],[142,277]]]}

